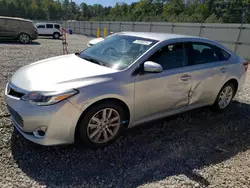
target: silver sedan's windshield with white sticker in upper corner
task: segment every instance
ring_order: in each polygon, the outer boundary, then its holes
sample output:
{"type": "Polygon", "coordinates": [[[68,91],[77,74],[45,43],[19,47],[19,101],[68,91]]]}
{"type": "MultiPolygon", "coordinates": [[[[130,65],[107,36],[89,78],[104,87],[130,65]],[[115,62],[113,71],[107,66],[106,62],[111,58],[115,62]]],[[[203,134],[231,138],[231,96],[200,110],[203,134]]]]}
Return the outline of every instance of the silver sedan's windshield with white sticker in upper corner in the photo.
{"type": "Polygon", "coordinates": [[[102,66],[122,70],[151,48],[156,40],[114,35],[82,51],[79,56],[102,66]]]}

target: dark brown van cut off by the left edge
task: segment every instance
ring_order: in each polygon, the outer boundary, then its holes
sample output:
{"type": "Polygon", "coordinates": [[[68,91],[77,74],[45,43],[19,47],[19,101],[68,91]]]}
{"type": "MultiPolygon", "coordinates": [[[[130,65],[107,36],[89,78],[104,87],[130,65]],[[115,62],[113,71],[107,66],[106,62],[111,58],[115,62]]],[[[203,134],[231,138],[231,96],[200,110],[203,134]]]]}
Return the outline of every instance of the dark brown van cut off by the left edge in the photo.
{"type": "Polygon", "coordinates": [[[0,16],[0,39],[19,40],[22,44],[28,44],[37,37],[37,29],[32,21],[0,16]]]}

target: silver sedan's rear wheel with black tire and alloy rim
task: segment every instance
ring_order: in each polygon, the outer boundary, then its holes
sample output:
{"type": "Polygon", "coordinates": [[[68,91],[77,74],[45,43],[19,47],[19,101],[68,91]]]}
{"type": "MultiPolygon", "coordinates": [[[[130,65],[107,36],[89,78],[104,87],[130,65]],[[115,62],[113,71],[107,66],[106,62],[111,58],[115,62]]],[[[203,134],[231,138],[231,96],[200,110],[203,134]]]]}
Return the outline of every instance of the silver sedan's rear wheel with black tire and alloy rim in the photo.
{"type": "Polygon", "coordinates": [[[217,96],[217,98],[216,98],[216,100],[214,102],[213,109],[215,111],[223,111],[223,110],[225,110],[229,106],[229,104],[232,102],[232,99],[233,99],[233,97],[235,95],[235,92],[236,91],[235,91],[234,84],[232,84],[232,83],[226,83],[221,88],[221,90],[220,90],[220,92],[219,92],[219,94],[218,94],[218,96],[217,96]],[[230,94],[228,93],[228,95],[227,95],[226,98],[224,98],[225,95],[223,95],[223,93],[225,94],[226,88],[228,88],[231,92],[230,92],[230,94]],[[225,99],[224,101],[226,101],[226,103],[225,102],[221,102],[223,100],[223,98],[225,99]],[[222,103],[224,103],[224,105],[222,105],[222,103]]]}

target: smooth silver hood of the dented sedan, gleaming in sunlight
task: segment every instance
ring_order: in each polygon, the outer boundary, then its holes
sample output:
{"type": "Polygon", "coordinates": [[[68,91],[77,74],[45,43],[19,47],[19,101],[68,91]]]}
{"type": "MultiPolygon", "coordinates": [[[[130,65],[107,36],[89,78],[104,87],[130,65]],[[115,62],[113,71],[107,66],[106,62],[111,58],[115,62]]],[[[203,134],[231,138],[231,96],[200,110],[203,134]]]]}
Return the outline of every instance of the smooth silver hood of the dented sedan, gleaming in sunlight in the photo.
{"type": "Polygon", "coordinates": [[[104,81],[114,72],[117,70],[69,54],[26,65],[15,72],[11,83],[27,91],[55,91],[104,81]]]}

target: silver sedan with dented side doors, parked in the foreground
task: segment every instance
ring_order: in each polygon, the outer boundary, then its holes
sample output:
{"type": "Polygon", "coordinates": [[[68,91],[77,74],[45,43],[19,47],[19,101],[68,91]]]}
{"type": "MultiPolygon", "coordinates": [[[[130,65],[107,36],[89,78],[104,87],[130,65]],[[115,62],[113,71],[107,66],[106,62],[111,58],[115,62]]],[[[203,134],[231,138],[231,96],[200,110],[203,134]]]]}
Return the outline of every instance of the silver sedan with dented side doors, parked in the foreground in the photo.
{"type": "Polygon", "coordinates": [[[79,139],[98,148],[144,122],[202,106],[224,110],[247,69],[244,59],[209,39],[121,32],[80,53],[20,68],[5,101],[28,140],[58,145],[79,139]],[[107,50],[124,41],[121,51],[107,50]]]}

